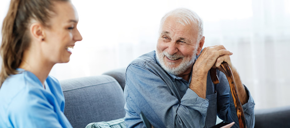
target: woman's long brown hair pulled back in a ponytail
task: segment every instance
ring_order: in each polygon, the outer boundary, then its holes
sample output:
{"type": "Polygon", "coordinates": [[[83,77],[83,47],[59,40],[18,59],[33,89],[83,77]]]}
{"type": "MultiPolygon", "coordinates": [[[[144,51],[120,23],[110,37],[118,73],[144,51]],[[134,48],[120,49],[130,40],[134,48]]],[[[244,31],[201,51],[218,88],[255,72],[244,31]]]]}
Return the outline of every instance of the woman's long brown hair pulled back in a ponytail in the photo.
{"type": "Polygon", "coordinates": [[[52,4],[59,1],[70,0],[11,0],[2,25],[0,87],[9,75],[17,74],[16,69],[22,62],[23,52],[31,42],[29,27],[32,21],[49,27],[49,19],[52,12],[55,12],[52,4]]]}

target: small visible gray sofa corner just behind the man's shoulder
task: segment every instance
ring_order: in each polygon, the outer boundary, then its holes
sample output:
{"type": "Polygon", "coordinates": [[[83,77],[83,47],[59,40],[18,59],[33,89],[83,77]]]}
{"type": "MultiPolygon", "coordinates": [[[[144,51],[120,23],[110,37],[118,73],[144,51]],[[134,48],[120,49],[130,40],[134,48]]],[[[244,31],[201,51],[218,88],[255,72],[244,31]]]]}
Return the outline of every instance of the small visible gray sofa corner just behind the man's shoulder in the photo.
{"type": "Polygon", "coordinates": [[[119,84],[121,85],[122,89],[124,90],[125,85],[126,85],[125,72],[126,72],[126,68],[120,68],[120,69],[110,70],[110,71],[105,72],[103,74],[109,75],[109,76],[115,78],[119,82],[119,84]]]}

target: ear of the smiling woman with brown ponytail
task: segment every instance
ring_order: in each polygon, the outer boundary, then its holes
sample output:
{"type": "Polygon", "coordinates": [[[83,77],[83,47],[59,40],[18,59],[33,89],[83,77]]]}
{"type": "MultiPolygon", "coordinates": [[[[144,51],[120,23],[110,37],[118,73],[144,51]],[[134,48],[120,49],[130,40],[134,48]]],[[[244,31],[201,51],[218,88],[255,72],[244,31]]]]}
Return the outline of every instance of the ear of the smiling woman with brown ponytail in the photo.
{"type": "Polygon", "coordinates": [[[45,32],[44,32],[44,27],[38,23],[32,23],[30,26],[30,34],[32,39],[37,40],[37,41],[44,41],[45,38],[45,32]]]}

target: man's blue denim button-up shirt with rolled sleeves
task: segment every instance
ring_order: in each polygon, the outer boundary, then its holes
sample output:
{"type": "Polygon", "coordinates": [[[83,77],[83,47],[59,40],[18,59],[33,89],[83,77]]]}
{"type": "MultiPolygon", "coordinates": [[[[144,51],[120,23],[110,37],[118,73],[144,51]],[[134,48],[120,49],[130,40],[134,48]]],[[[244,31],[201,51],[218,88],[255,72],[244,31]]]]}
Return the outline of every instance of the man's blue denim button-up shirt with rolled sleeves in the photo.
{"type": "MultiPolygon", "coordinates": [[[[139,116],[142,111],[156,128],[208,128],[215,125],[216,115],[239,127],[229,83],[222,72],[217,74],[220,83],[216,85],[207,74],[206,99],[203,99],[188,88],[186,80],[164,71],[155,51],[140,56],[126,69],[126,126],[144,128],[139,116]]],[[[246,92],[249,100],[243,109],[246,126],[251,128],[255,123],[255,103],[247,88],[246,92]]]]}

